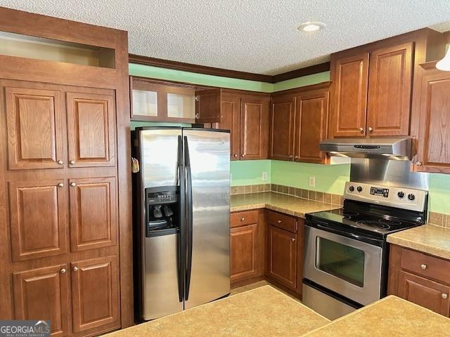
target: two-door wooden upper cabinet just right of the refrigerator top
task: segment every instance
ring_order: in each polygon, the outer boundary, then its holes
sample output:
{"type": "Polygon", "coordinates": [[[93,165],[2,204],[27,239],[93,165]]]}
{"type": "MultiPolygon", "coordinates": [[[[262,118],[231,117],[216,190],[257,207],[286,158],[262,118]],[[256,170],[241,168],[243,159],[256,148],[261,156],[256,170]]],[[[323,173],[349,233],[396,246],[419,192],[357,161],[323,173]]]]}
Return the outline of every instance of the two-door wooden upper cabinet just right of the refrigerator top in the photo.
{"type": "Polygon", "coordinates": [[[231,160],[267,159],[269,95],[223,90],[221,121],[212,127],[230,131],[231,160]]]}

